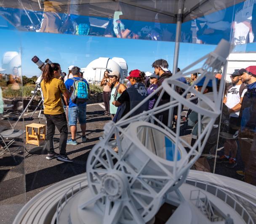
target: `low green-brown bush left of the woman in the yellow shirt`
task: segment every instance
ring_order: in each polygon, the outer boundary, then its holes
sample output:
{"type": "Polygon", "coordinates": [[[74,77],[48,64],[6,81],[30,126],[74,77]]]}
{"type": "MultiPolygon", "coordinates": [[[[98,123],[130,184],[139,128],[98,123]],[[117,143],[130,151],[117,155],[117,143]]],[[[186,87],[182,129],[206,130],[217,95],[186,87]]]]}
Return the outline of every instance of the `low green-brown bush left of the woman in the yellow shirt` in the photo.
{"type": "Polygon", "coordinates": [[[31,91],[35,89],[35,85],[31,86],[21,86],[20,89],[12,89],[11,86],[3,89],[4,98],[13,98],[13,97],[24,97],[31,96],[31,91]]]}

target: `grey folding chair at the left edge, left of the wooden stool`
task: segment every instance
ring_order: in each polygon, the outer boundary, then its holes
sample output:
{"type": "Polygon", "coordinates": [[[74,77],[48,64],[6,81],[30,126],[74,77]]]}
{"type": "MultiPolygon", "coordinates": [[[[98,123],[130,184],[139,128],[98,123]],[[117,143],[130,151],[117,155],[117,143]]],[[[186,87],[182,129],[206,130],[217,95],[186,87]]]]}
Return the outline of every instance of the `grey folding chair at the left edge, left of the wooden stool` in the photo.
{"type": "MultiPolygon", "coordinates": [[[[25,133],[25,130],[13,130],[13,129],[9,129],[9,130],[4,130],[2,132],[0,132],[0,138],[1,140],[3,141],[4,143],[4,147],[3,147],[3,150],[0,151],[0,156],[3,156],[5,154],[6,151],[9,151],[9,153],[11,154],[11,156],[13,157],[14,161],[16,162],[16,159],[15,157],[13,156],[12,152],[16,152],[16,151],[19,151],[19,149],[22,147],[22,146],[19,146],[15,151],[12,151],[10,150],[10,146],[12,143],[15,142],[15,139],[16,138],[19,138],[21,135],[23,135],[25,133]],[[6,142],[5,139],[11,139],[11,141],[9,142],[6,142]]],[[[26,152],[28,153],[27,151],[27,148],[25,147],[24,145],[24,149],[26,150],[26,152]]]]}

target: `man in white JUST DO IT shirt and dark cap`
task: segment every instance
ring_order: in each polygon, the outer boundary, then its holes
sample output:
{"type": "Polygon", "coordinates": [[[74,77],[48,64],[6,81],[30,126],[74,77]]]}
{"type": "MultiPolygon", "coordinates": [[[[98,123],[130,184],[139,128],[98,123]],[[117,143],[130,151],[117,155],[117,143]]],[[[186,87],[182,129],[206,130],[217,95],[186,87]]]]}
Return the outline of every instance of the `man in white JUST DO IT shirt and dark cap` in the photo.
{"type": "Polygon", "coordinates": [[[239,69],[235,69],[231,74],[232,85],[228,87],[227,94],[224,96],[223,103],[229,108],[230,120],[229,120],[229,134],[232,138],[228,138],[224,143],[224,155],[221,156],[217,162],[227,162],[226,167],[234,168],[237,166],[236,154],[237,154],[237,136],[240,128],[239,112],[243,100],[243,96],[246,93],[246,85],[242,83],[239,69]],[[231,151],[231,156],[229,153],[231,151]]]}

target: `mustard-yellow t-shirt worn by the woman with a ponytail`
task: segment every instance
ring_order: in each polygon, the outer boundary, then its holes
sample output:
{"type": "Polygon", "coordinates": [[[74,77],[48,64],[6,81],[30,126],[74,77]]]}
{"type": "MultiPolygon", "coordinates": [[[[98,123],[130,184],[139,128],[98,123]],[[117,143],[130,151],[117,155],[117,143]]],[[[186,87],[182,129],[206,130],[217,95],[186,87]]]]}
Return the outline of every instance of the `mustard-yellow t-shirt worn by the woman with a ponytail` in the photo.
{"type": "Polygon", "coordinates": [[[43,91],[44,114],[46,115],[59,115],[64,113],[63,104],[61,101],[61,93],[67,91],[64,82],[58,78],[52,78],[50,82],[41,82],[43,91]]]}

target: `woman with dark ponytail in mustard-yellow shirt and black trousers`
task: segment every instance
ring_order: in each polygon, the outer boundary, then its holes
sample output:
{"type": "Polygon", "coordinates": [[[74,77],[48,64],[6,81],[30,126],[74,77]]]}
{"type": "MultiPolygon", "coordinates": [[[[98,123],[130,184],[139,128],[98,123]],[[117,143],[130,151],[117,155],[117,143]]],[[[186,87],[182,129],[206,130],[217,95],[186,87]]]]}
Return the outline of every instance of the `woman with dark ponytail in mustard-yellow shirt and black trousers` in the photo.
{"type": "Polygon", "coordinates": [[[46,146],[48,155],[46,159],[51,160],[57,158],[59,161],[73,162],[66,154],[68,128],[64,107],[61,101],[61,94],[69,99],[72,95],[72,90],[70,92],[67,91],[64,82],[59,79],[60,76],[61,67],[58,63],[45,65],[42,75],[41,89],[44,97],[44,115],[47,124],[46,146]],[[55,127],[57,127],[60,132],[59,154],[53,149],[55,127]]]}

